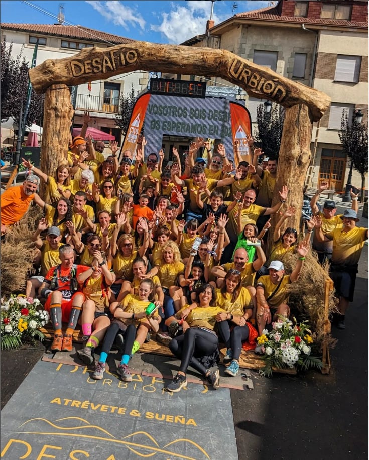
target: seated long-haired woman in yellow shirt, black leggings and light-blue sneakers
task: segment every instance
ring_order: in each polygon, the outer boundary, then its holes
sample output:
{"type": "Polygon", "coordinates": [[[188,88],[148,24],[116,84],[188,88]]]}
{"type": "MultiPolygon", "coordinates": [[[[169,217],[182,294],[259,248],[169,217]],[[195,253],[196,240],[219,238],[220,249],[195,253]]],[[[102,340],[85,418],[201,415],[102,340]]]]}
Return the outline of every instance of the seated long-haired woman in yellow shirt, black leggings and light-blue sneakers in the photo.
{"type": "Polygon", "coordinates": [[[234,377],[239,370],[242,342],[249,338],[253,327],[250,319],[256,311],[256,290],[253,286],[242,287],[241,275],[229,270],[224,286],[216,290],[216,305],[226,311],[216,317],[218,334],[227,348],[223,363],[230,363],[224,372],[234,377]]]}

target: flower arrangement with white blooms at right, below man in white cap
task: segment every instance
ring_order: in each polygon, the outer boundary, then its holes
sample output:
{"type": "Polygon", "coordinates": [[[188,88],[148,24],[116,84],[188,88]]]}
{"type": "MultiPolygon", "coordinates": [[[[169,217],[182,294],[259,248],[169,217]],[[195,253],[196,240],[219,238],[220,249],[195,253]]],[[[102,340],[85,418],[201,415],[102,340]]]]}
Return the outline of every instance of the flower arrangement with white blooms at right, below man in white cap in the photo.
{"type": "Polygon", "coordinates": [[[264,329],[257,338],[265,361],[265,367],[259,371],[261,375],[271,377],[273,368],[322,368],[322,361],[310,355],[313,339],[308,321],[297,325],[296,319],[293,320],[294,323],[280,317],[272,323],[271,331],[264,329]]]}

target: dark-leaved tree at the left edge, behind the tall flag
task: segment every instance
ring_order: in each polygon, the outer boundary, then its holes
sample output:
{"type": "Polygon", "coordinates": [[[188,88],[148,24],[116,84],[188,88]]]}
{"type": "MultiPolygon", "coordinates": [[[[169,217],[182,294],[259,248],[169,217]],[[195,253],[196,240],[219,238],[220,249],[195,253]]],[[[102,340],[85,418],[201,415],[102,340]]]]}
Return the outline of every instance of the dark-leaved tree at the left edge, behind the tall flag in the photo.
{"type": "MultiPolygon", "coordinates": [[[[23,49],[16,58],[12,56],[13,44],[0,42],[1,81],[0,81],[0,119],[5,122],[9,117],[19,121],[21,107],[26,106],[28,92],[29,65],[23,56],[23,49]]],[[[31,104],[28,110],[27,125],[36,122],[42,125],[43,95],[31,93],[31,104]]]]}

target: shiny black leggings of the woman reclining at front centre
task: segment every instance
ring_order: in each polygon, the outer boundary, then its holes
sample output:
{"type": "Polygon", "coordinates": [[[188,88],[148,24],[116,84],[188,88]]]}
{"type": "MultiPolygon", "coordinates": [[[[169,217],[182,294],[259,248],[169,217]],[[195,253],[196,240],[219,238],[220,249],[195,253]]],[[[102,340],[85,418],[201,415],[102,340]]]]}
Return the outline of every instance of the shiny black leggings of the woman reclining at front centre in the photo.
{"type": "Polygon", "coordinates": [[[218,337],[204,329],[190,327],[183,335],[173,338],[169,348],[174,356],[181,360],[180,371],[186,373],[188,366],[205,375],[206,367],[196,357],[208,356],[218,348],[218,337]]]}

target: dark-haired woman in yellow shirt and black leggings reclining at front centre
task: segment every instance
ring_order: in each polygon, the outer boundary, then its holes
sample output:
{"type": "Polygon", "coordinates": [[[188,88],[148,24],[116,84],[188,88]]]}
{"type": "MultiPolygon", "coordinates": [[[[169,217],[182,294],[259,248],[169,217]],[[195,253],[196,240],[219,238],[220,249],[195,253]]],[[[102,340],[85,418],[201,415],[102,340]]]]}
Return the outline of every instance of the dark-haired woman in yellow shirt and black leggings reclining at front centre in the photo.
{"type": "MultiPolygon", "coordinates": [[[[214,332],[216,317],[219,313],[225,313],[225,310],[217,307],[215,300],[213,286],[203,284],[196,291],[196,301],[191,309],[186,306],[178,312],[184,319],[183,334],[173,338],[169,342],[169,348],[173,355],[181,360],[181,364],[174,379],[164,384],[164,390],[176,393],[185,387],[189,366],[203,375],[214,390],[219,388],[219,370],[210,371],[209,368],[216,363],[219,356],[218,337],[214,332]],[[202,357],[207,357],[206,365],[200,362],[202,357]]],[[[168,318],[172,319],[175,320],[174,315],[173,318],[168,318]]]]}

